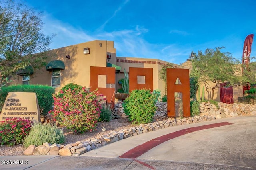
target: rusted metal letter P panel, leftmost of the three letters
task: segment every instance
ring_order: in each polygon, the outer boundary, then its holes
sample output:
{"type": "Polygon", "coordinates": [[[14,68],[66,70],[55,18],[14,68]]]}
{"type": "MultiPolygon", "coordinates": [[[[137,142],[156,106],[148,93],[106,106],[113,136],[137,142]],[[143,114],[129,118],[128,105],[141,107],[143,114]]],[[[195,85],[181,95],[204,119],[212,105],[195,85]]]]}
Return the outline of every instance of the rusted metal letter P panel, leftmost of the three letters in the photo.
{"type": "MultiPolygon", "coordinates": [[[[99,92],[106,96],[107,102],[110,103],[112,95],[115,91],[115,86],[113,87],[98,87],[98,76],[106,75],[106,84],[115,84],[116,83],[116,69],[114,67],[90,67],[90,90],[96,90],[98,88],[99,92]]],[[[107,86],[107,85],[106,85],[107,86]]],[[[115,98],[112,98],[114,102],[115,98]]]]}

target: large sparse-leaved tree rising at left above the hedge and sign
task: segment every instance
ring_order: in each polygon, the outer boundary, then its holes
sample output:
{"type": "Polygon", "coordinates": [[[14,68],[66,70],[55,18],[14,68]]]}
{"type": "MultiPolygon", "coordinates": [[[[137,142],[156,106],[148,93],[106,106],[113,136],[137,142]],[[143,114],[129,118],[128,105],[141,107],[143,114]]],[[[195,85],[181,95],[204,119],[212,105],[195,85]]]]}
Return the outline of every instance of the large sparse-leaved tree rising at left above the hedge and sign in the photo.
{"type": "Polygon", "coordinates": [[[51,38],[42,33],[41,14],[12,0],[0,3],[0,87],[27,66],[46,65],[51,38]]]}

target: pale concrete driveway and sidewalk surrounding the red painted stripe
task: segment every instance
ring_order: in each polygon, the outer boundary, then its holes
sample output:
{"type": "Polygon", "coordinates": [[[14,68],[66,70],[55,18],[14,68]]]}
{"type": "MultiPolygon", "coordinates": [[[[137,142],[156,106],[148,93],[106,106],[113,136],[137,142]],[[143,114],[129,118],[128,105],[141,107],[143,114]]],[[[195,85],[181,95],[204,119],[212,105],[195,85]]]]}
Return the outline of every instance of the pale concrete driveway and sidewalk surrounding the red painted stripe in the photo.
{"type": "Polygon", "coordinates": [[[256,116],[168,127],[122,139],[80,156],[0,156],[0,160],[4,163],[0,169],[13,170],[256,169],[256,116]],[[132,154],[132,149],[137,146],[143,148],[145,143],[154,141],[152,139],[222,122],[232,124],[193,131],[166,140],[135,159],[120,158],[125,153],[132,154]],[[6,164],[8,161],[12,164],[6,164]]]}

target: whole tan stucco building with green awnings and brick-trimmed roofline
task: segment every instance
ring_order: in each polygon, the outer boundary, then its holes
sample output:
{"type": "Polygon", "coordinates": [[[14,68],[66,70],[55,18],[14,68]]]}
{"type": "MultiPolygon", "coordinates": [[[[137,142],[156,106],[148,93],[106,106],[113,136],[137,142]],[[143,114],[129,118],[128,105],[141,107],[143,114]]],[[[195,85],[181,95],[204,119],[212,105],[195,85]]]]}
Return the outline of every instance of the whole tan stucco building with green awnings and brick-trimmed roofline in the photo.
{"type": "MultiPolygon", "coordinates": [[[[68,83],[79,84],[91,87],[96,83],[96,88],[112,88],[117,91],[121,88],[118,84],[124,78],[124,69],[129,73],[130,67],[152,68],[153,69],[153,89],[161,90],[165,93],[164,81],[159,78],[159,70],[169,62],[159,59],[146,59],[134,57],[117,57],[114,41],[94,40],[90,42],[71,45],[53,49],[45,68],[18,74],[18,78],[12,84],[43,84],[52,86],[58,92],[68,83]],[[112,67],[115,71],[114,83],[109,83],[108,75],[95,73],[93,76],[91,67],[95,67],[93,72],[112,67]]],[[[172,63],[171,63],[172,64],[172,63]]],[[[181,65],[172,64],[173,68],[186,68],[181,65]]],[[[103,70],[104,72],[104,70],[103,70]]],[[[143,77],[142,77],[143,79],[143,77]]],[[[138,80],[142,81],[143,80],[138,80]]],[[[95,88],[95,87],[94,87],[95,88]]]]}

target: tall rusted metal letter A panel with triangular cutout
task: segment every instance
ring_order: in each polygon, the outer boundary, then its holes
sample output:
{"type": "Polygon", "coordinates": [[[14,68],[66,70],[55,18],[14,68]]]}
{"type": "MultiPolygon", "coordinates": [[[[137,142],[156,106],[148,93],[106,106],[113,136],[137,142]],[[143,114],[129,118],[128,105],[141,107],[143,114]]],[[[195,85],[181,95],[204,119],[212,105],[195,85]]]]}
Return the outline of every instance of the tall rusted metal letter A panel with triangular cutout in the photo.
{"type": "Polygon", "coordinates": [[[183,116],[190,117],[189,70],[167,68],[167,116],[175,117],[175,92],[182,93],[183,116]],[[175,84],[179,78],[181,84],[175,84]]]}

